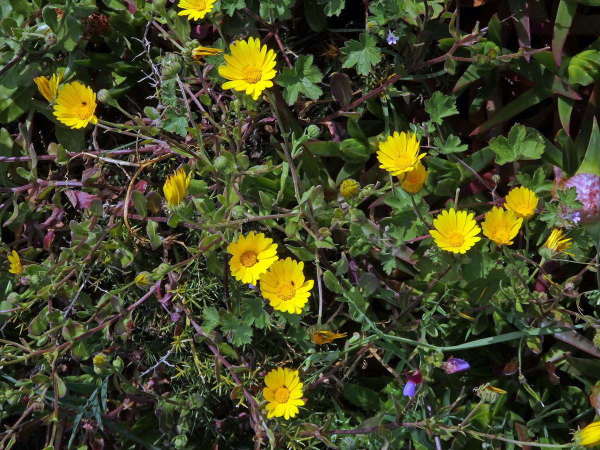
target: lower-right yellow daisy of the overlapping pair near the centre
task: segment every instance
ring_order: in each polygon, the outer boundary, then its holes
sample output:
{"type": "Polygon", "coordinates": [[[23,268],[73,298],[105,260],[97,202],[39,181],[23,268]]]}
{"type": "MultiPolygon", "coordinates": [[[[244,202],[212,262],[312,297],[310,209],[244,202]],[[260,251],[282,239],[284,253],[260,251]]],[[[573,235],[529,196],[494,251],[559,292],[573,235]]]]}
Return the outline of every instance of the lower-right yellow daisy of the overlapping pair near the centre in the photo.
{"type": "Polygon", "coordinates": [[[275,261],[266,274],[260,275],[260,292],[269,305],[290,314],[302,313],[308,301],[313,280],[304,281],[304,263],[285,260],[275,261]]]}

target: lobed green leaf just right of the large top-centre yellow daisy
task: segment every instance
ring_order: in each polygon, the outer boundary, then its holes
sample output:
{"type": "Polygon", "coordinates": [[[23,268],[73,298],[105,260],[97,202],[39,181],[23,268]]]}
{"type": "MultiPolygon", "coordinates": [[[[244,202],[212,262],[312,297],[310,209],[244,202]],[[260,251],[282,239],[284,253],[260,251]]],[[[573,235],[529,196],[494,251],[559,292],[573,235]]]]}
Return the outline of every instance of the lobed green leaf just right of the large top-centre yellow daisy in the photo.
{"type": "Polygon", "coordinates": [[[283,98],[286,103],[292,105],[298,100],[299,92],[302,92],[311,100],[317,100],[323,91],[316,83],[320,83],[323,75],[313,65],[313,55],[299,55],[294,68],[284,67],[283,73],[278,75],[275,82],[283,86],[283,98]]]}

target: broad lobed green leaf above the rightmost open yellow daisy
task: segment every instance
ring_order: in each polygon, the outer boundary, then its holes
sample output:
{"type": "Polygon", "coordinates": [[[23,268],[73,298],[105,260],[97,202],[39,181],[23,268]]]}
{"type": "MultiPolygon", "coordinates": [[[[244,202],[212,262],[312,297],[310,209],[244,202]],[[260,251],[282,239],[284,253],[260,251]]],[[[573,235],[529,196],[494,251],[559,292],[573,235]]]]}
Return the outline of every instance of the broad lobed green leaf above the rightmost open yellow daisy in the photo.
{"type": "Polygon", "coordinates": [[[508,139],[504,136],[494,137],[490,140],[490,148],[496,153],[496,163],[506,164],[538,159],[544,153],[545,143],[539,134],[515,124],[508,133],[508,139]]]}

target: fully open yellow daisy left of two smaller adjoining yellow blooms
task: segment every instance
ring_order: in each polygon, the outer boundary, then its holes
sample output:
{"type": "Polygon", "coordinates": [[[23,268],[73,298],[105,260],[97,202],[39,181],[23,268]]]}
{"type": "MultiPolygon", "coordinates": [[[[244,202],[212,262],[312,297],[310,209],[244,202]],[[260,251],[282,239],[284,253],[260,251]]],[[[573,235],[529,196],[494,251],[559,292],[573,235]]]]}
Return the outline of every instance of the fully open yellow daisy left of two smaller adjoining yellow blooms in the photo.
{"type": "Polygon", "coordinates": [[[435,230],[429,230],[437,247],[452,253],[465,253],[481,238],[481,229],[473,219],[473,213],[466,211],[442,211],[433,220],[435,230]]]}

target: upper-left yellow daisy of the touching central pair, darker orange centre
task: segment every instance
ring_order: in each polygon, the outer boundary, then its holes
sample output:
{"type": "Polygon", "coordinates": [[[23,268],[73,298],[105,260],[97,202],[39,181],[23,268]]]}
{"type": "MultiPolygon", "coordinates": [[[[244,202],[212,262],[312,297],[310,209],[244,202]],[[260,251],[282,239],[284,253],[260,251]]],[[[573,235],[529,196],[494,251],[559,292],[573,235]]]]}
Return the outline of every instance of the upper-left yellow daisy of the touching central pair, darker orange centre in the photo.
{"type": "Polygon", "coordinates": [[[227,245],[232,254],[229,260],[231,274],[242,283],[255,284],[260,275],[268,271],[277,260],[277,244],[273,239],[265,238],[264,233],[240,235],[237,242],[227,245]]]}

